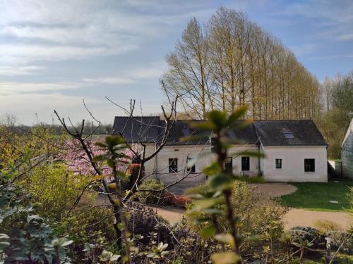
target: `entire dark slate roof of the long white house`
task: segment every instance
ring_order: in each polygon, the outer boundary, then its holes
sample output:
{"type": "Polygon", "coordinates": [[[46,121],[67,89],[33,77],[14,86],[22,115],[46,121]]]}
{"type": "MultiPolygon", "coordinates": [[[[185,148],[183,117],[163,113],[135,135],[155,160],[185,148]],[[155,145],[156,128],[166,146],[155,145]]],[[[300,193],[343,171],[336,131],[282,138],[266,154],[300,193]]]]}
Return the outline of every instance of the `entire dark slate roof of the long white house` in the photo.
{"type": "MultiPolygon", "coordinates": [[[[189,127],[189,120],[177,120],[168,137],[170,145],[210,144],[211,132],[189,127]],[[181,137],[205,134],[208,137],[181,142],[181,137]]],[[[193,121],[195,122],[195,121],[193,121]]],[[[241,122],[241,121],[238,121],[241,122]]],[[[158,116],[128,117],[117,116],[114,120],[113,134],[123,132],[128,142],[160,142],[164,130],[164,121],[158,116]]],[[[263,146],[327,146],[325,139],[312,120],[263,120],[241,130],[228,130],[230,137],[239,140],[239,144],[259,144],[263,146]],[[292,132],[294,138],[287,139],[284,132],[292,132]]]]}

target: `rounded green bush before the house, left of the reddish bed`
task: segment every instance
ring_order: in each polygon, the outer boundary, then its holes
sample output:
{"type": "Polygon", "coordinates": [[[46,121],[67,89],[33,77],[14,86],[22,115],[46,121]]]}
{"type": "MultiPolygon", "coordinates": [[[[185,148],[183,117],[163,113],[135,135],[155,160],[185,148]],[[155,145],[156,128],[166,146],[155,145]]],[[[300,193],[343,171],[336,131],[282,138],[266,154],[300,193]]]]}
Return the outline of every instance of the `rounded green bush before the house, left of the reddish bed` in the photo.
{"type": "MultiPolygon", "coordinates": [[[[139,189],[145,190],[159,190],[164,187],[164,184],[159,180],[151,179],[145,180],[140,184],[139,189]]],[[[135,199],[141,203],[164,203],[164,196],[162,191],[138,191],[133,195],[135,199]]]]}

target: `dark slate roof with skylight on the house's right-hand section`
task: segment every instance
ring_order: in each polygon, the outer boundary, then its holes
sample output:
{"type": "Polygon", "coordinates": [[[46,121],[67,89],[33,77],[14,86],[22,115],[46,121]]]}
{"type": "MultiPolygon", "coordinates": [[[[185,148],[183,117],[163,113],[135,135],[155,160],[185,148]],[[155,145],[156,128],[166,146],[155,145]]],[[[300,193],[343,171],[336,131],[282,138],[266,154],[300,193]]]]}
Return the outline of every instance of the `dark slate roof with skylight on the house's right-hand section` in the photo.
{"type": "Polygon", "coordinates": [[[263,146],[327,146],[312,120],[263,120],[253,125],[263,146]],[[292,132],[294,139],[287,139],[292,132]]]}

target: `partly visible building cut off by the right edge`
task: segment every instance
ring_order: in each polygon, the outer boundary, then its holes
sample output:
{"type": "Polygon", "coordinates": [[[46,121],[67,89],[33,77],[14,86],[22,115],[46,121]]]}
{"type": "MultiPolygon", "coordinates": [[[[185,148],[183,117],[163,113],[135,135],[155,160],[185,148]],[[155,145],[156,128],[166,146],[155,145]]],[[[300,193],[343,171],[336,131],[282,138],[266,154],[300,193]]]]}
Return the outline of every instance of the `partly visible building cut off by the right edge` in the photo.
{"type": "Polygon", "coordinates": [[[342,142],[342,175],[353,179],[353,119],[342,142]]]}

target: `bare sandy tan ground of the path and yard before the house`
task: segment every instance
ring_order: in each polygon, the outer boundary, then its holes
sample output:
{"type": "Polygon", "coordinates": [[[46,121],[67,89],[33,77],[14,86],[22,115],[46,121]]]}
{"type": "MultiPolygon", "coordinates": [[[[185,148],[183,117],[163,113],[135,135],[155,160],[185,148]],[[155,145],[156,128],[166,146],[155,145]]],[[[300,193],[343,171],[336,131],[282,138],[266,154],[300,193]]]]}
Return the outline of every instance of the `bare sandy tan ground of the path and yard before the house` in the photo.
{"type": "MultiPolygon", "coordinates": [[[[271,184],[251,184],[261,192],[263,198],[269,199],[270,197],[282,196],[290,194],[297,190],[290,184],[271,183],[271,184]]],[[[179,222],[183,218],[184,209],[179,208],[154,208],[157,210],[158,215],[168,220],[171,224],[179,222]]],[[[284,217],[285,229],[298,225],[313,227],[316,220],[330,220],[342,228],[347,228],[352,225],[352,218],[349,213],[345,212],[317,212],[304,209],[291,209],[284,217]]]]}

